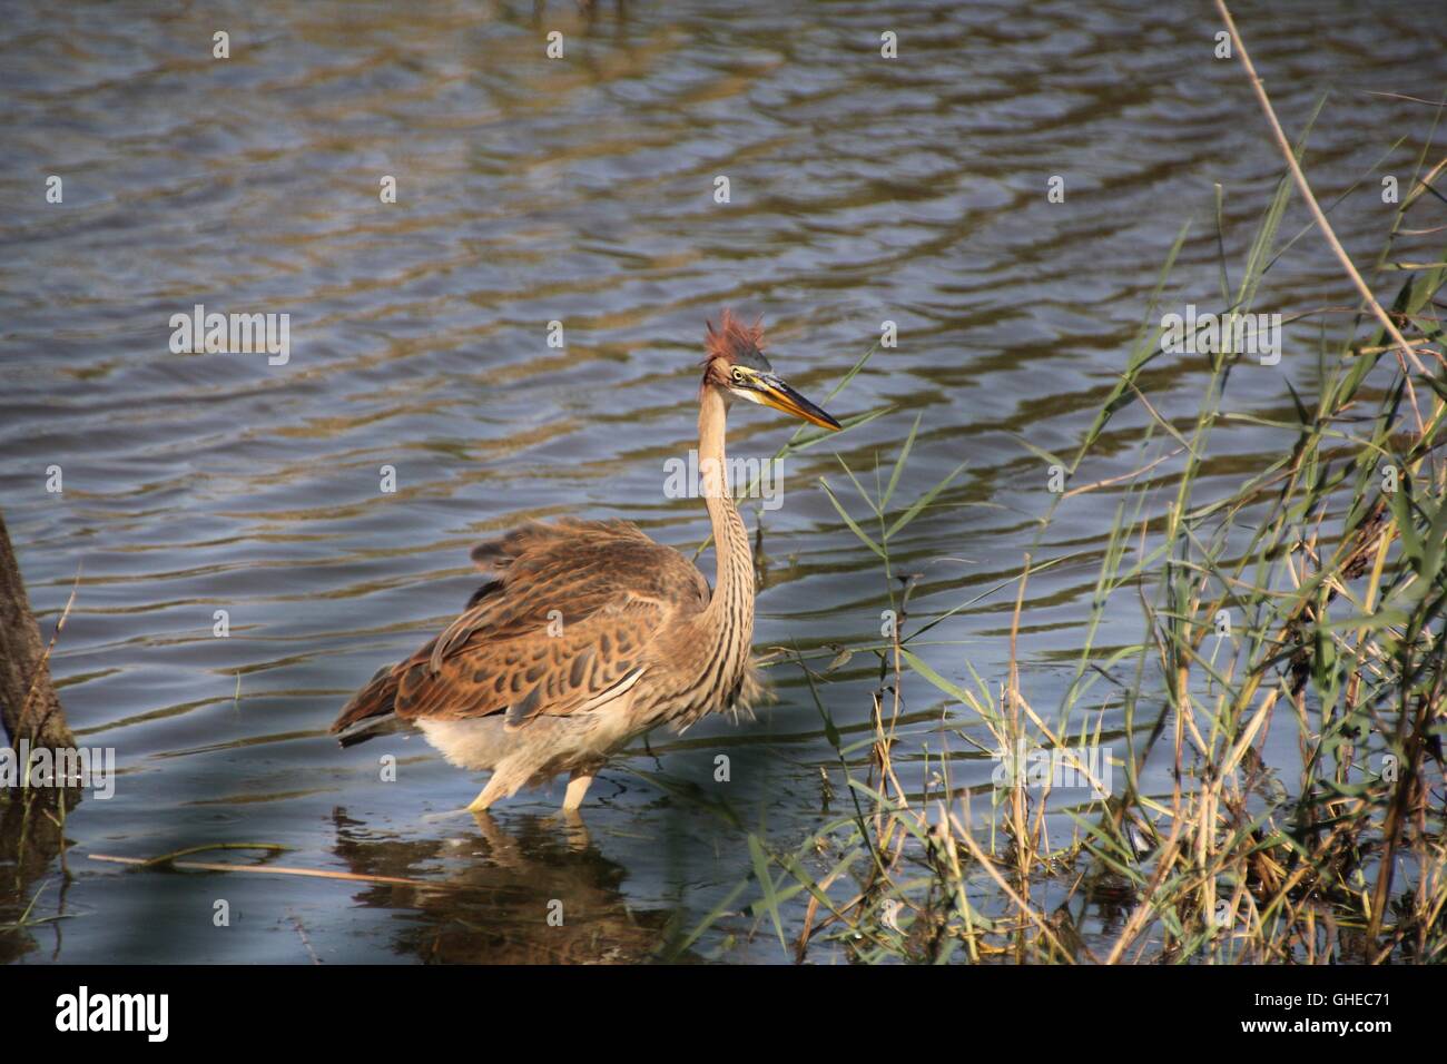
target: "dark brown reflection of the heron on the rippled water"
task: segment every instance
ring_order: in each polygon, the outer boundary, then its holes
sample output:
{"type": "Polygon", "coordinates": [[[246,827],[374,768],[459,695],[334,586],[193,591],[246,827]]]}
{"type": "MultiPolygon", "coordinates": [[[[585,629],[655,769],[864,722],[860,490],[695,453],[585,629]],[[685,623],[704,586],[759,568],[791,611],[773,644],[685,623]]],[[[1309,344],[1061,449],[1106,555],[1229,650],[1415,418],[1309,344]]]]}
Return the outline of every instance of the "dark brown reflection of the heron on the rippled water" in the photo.
{"type": "Polygon", "coordinates": [[[333,814],[336,853],[378,883],[360,905],[410,911],[392,948],[437,964],[627,964],[653,960],[670,913],[635,911],[627,870],[605,858],[576,818],[515,816],[505,831],[488,814],[462,816],[441,838],[378,837],[333,814]]]}

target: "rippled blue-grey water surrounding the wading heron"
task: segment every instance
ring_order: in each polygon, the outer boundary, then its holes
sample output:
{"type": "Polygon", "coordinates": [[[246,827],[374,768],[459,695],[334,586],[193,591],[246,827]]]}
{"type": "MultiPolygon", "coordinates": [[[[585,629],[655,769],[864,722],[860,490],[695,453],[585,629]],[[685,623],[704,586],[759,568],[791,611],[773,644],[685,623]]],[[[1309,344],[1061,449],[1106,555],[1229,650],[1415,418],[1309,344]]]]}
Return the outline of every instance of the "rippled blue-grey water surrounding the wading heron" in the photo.
{"type": "MultiPolygon", "coordinates": [[[[968,466],[894,543],[925,575],[915,620],[1006,583],[1052,498],[1022,440],[1074,450],[1188,219],[1172,295],[1218,305],[1213,182],[1234,279],[1281,172],[1239,65],[1211,55],[1205,4],[7,9],[0,498],[46,637],[80,573],[54,672],[82,743],[114,747],[123,773],[114,799],[68,821],[64,892],[52,864],[0,893],[6,919],[38,889],[33,915],[69,916],[7,937],[4,955],[30,961],[631,960],[692,929],[747,874],[748,829],[793,845],[822,815],[820,766],[841,783],[796,667],[773,670],[781,699],[758,722],[710,719],[618,759],[586,832],[546,819],[561,782],[501,806],[491,834],[428,819],[478,780],[418,737],[340,751],[326,727],[457,612],[478,583],[467,550],[492,533],[574,514],[687,552],[703,540],[702,507],[666,498],[664,462],[693,446],[703,320],[722,307],[764,314],[776,368],[815,397],[881,321],[900,334],[829,404],[891,413],[790,459],[784,505],[763,515],[761,649],[797,641],[828,660],[877,640],[884,578],[816,481],[862,517],[833,452],[873,484],[916,415],[899,499],[968,466]],[[561,61],[544,56],[554,28],[561,61]],[[218,29],[227,61],[210,54],[218,29]],[[896,61],[878,55],[884,29],[896,61]],[[45,201],[51,174],[62,204],[45,201]],[[383,175],[395,204],[379,201],[383,175]],[[1052,175],[1064,203],[1046,195],[1052,175]],[[195,304],[288,313],[289,362],[172,355],[169,318],[195,304]],[[64,494],[46,492],[49,466],[64,494]],[[395,494],[379,491],[382,466],[395,494]],[[379,780],[383,754],[395,783],[379,780]],[[91,857],[227,841],[417,883],[91,857]]],[[[1328,204],[1365,177],[1333,210],[1359,261],[1391,223],[1380,172],[1405,185],[1430,126],[1430,109],[1366,93],[1437,91],[1447,42],[1420,14],[1350,0],[1236,12],[1292,135],[1331,90],[1307,166],[1328,204]]],[[[1294,203],[1282,232],[1304,223],[1294,203]]],[[[1308,233],[1257,305],[1351,303],[1308,233]]],[[[1229,408],[1285,417],[1314,345],[1314,324],[1288,327],[1282,363],[1243,371],[1229,408]]],[[[1162,415],[1194,414],[1201,369],[1155,365],[1162,415]]],[[[1079,476],[1136,468],[1146,426],[1123,411],[1079,476]]],[[[731,452],[770,455],[792,431],[738,410],[731,452]]],[[[1288,442],[1223,427],[1208,475],[1233,485],[1288,442]]],[[[1072,675],[1116,501],[1075,497],[1035,547],[1074,554],[1029,585],[1036,705],[1072,675]]],[[[702,565],[712,576],[710,553],[702,565]]],[[[932,664],[962,679],[968,660],[998,683],[1011,599],[1009,586],[935,628],[932,664]]],[[[1123,611],[1098,643],[1139,634],[1123,611]]],[[[855,737],[873,660],[823,685],[855,737]]],[[[938,692],[912,679],[906,705],[909,748],[938,750],[938,692]]],[[[951,724],[981,734],[964,712],[951,724]]],[[[991,761],[951,748],[956,785],[987,790],[991,761]]],[[[916,756],[901,766],[922,783],[916,756]]],[[[726,916],[689,955],[783,960],[755,929],[726,916]]]]}

